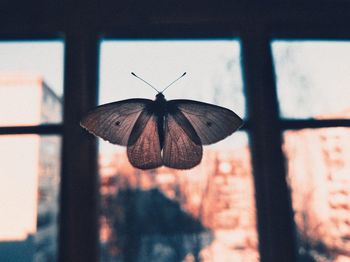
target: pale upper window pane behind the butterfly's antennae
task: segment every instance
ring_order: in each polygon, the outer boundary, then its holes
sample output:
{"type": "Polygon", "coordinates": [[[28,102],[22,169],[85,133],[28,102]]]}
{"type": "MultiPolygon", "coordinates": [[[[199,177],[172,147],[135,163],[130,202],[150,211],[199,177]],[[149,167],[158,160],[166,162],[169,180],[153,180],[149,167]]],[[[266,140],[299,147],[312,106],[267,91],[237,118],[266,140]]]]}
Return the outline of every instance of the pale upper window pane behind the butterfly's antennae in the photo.
{"type": "Polygon", "coordinates": [[[185,78],[165,92],[171,99],[215,103],[245,115],[240,46],[226,41],[103,41],[100,104],[156,92],[130,73],[165,88],[183,72],[185,78]]]}

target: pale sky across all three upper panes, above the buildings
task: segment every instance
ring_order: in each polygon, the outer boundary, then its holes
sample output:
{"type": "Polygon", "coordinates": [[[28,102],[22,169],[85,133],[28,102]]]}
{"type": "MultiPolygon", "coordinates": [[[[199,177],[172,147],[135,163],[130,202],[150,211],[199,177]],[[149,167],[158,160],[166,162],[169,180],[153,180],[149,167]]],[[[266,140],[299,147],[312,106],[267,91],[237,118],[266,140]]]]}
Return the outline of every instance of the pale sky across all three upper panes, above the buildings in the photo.
{"type": "MultiPolygon", "coordinates": [[[[216,99],[214,102],[238,115],[246,114],[236,39],[102,41],[100,51],[100,103],[130,97],[154,98],[155,91],[133,78],[131,71],[158,88],[186,71],[187,76],[166,91],[168,99],[216,99]],[[215,86],[221,90],[216,97],[215,86]]],[[[282,116],[309,118],[348,108],[349,42],[276,40],[272,51],[282,116]]],[[[63,93],[63,64],[63,41],[0,42],[1,73],[43,76],[59,96],[63,93]]]]}

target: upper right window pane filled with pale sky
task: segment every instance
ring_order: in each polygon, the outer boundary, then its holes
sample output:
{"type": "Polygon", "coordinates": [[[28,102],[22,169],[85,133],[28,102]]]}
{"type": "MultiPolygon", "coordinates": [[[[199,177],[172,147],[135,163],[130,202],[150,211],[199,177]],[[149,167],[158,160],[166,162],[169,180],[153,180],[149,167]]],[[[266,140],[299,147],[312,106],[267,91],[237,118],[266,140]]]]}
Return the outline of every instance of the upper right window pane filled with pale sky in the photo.
{"type": "Polygon", "coordinates": [[[350,42],[274,41],[281,115],[349,118],[350,42]]]}

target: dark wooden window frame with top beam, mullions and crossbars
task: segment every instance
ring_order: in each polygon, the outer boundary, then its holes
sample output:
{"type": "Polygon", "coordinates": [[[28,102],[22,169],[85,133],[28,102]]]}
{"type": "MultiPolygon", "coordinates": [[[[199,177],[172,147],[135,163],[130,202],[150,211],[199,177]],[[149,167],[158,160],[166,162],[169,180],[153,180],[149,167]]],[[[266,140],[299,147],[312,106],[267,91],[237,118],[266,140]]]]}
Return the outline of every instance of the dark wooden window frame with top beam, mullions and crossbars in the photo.
{"type": "Polygon", "coordinates": [[[65,41],[64,121],[1,127],[1,134],[63,137],[60,261],[98,261],[96,140],[79,127],[97,104],[101,38],[230,38],[242,44],[261,261],[296,261],[283,130],[350,126],[350,120],[283,120],[278,115],[271,40],[350,40],[350,2],[53,0],[0,3],[0,40],[65,41]]]}

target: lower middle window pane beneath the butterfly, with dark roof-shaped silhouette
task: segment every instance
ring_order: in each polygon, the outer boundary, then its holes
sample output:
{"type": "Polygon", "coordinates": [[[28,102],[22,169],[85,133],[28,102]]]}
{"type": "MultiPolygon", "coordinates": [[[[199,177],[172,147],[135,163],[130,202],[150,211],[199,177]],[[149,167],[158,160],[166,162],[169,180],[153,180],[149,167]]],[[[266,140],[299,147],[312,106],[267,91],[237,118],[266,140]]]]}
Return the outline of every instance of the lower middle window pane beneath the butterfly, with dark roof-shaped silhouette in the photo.
{"type": "Polygon", "coordinates": [[[188,171],[137,170],[124,150],[101,149],[102,261],[258,261],[245,133],[205,147],[188,171]]]}

